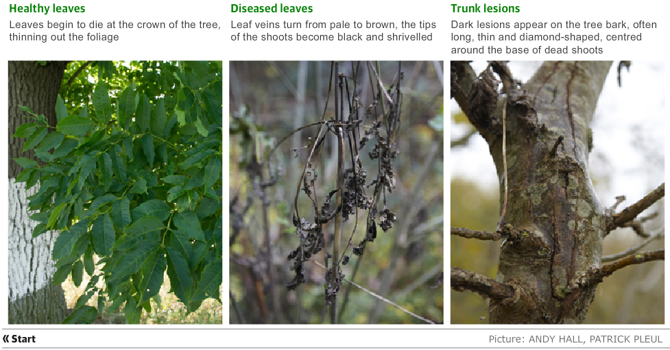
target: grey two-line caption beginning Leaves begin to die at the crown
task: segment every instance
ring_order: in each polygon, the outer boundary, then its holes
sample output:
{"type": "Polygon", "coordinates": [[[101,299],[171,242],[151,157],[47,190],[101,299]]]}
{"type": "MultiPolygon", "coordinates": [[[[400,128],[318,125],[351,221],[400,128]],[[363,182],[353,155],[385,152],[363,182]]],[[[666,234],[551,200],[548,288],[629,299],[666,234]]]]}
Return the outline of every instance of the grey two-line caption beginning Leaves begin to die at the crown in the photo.
{"type": "Polygon", "coordinates": [[[11,42],[47,42],[47,41],[87,41],[115,42],[121,40],[123,34],[149,33],[152,29],[175,30],[220,30],[216,22],[184,21],[172,22],[147,21],[9,21],[11,42]],[[53,32],[56,30],[57,32],[53,32]],[[48,33],[47,33],[48,31],[48,33]]]}

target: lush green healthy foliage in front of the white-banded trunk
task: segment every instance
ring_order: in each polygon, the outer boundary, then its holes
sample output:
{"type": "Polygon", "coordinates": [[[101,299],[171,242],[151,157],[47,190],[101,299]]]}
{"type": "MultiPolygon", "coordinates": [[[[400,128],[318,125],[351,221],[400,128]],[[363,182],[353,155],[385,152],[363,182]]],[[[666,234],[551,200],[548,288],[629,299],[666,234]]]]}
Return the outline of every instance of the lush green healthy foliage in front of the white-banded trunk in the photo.
{"type": "Polygon", "coordinates": [[[192,66],[161,63],[151,79],[121,87],[101,80],[85,92],[92,106],[72,114],[73,97],[58,97],[50,133],[44,116],[23,108],[35,122],[14,137],[47,162],[14,160],[24,168],[17,182],[40,181],[29,197],[29,210],[38,210],[34,234],[61,230],[51,255],[55,283],[92,276],[65,323],[95,320],[97,310],[85,304],[96,293],[99,305],[111,302],[109,312],[125,303],[128,321],[139,321],[165,271],[189,312],[206,297],[220,300],[222,65],[192,66]]]}

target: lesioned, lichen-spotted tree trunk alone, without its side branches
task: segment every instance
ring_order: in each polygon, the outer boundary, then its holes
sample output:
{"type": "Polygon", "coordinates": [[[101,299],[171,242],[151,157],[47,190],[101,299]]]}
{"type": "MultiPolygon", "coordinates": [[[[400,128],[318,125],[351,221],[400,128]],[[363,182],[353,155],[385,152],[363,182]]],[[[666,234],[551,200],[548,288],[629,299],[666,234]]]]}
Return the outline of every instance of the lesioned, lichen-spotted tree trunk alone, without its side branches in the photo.
{"type": "Polygon", "coordinates": [[[470,120],[496,164],[500,229],[511,234],[496,280],[514,286],[515,295],[491,303],[491,323],[582,323],[586,317],[595,285],[579,281],[600,265],[607,227],[588,172],[589,124],[610,65],[545,62],[520,90],[502,77],[509,90],[497,101],[490,71],[472,85],[470,120]]]}

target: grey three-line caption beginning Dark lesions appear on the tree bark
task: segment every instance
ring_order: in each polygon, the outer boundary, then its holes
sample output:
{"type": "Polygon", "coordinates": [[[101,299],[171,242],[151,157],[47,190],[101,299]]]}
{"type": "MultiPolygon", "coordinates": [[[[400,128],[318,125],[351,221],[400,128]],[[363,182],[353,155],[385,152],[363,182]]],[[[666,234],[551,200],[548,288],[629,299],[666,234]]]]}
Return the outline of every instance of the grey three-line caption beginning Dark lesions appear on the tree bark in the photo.
{"type": "Polygon", "coordinates": [[[642,41],[645,34],[657,28],[656,22],[643,20],[632,23],[452,20],[451,53],[603,53],[603,43],[642,41]]]}

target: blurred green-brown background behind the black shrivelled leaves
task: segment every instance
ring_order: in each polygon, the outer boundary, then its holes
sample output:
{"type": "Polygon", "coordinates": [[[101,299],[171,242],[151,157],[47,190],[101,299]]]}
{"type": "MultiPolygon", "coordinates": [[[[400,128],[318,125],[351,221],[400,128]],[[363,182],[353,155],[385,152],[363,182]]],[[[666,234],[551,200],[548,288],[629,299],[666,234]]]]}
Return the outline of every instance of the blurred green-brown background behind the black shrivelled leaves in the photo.
{"type": "MultiPolygon", "coordinates": [[[[352,64],[357,62],[339,62],[339,71],[351,77],[352,64]]],[[[362,117],[373,97],[365,62],[360,67],[359,84],[355,88],[363,106],[362,117]]],[[[386,233],[378,228],[376,240],[368,242],[361,257],[352,255],[349,248],[346,254],[350,255],[350,262],[342,266],[346,279],[352,278],[364,288],[435,323],[444,320],[444,286],[431,288],[439,284],[444,266],[442,69],[442,62],[402,62],[403,100],[396,138],[400,154],[393,161],[397,183],[396,190],[386,196],[397,221],[386,233]]],[[[331,62],[230,62],[230,323],[329,322],[324,306],[324,268],[307,262],[307,282],[298,290],[288,291],[285,287],[295,275],[290,271],[292,261],[287,260],[299,243],[291,223],[291,208],[308,155],[308,151],[296,153],[291,148],[309,144],[309,137],[317,136],[318,125],[302,129],[280,145],[277,142],[298,127],[321,120],[330,72],[331,62]],[[276,145],[276,151],[272,152],[276,145]],[[266,155],[269,160],[264,162],[266,155]],[[278,181],[274,186],[264,190],[259,186],[275,175],[278,181]],[[269,258],[265,254],[261,199],[267,203],[269,258]]],[[[380,62],[380,72],[385,87],[389,88],[398,72],[398,62],[380,62]]],[[[349,90],[353,93],[352,84],[349,90]]],[[[334,116],[334,103],[331,92],[326,120],[334,116]]],[[[363,123],[370,125],[371,121],[372,117],[363,123]]],[[[320,160],[315,162],[320,201],[335,188],[337,158],[333,138],[332,134],[326,138],[320,160]]],[[[360,153],[363,167],[368,171],[367,184],[377,173],[378,160],[371,161],[368,157],[374,143],[373,138],[360,153]]],[[[368,188],[366,194],[372,196],[372,191],[372,187],[368,188]]],[[[311,202],[304,192],[298,208],[301,216],[313,221],[311,202]]],[[[383,204],[379,210],[382,208],[383,204]]],[[[351,240],[354,246],[365,235],[366,213],[359,210],[357,231],[351,240]]],[[[355,219],[350,216],[344,225],[343,248],[353,225],[355,219]]],[[[324,225],[324,234],[332,236],[332,222],[324,225]]],[[[332,238],[326,238],[326,242],[332,242],[332,238]]],[[[331,245],[326,249],[331,252],[331,245]]],[[[323,251],[311,260],[323,264],[323,251]]],[[[425,324],[346,282],[339,290],[338,303],[339,323],[343,324],[425,324]]]]}

